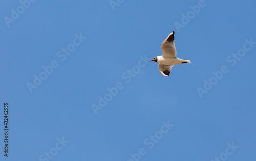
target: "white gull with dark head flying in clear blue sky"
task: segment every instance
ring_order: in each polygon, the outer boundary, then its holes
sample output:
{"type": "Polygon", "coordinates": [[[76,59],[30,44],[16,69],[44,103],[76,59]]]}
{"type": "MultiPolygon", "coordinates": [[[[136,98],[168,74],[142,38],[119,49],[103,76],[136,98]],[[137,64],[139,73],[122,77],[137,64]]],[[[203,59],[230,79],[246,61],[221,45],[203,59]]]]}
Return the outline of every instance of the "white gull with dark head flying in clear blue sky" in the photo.
{"type": "Polygon", "coordinates": [[[157,56],[150,61],[155,61],[158,64],[159,71],[164,76],[169,76],[172,67],[177,64],[190,63],[190,60],[183,60],[176,57],[176,48],[174,44],[174,31],[163,41],[161,45],[163,51],[162,56],[157,56]]]}

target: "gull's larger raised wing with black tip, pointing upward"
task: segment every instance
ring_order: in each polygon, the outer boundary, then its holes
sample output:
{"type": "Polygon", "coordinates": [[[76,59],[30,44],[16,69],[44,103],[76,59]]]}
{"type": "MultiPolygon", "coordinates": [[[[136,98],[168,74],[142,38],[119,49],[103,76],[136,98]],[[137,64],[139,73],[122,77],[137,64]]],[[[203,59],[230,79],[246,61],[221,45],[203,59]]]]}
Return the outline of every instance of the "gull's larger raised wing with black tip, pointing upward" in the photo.
{"type": "Polygon", "coordinates": [[[163,41],[161,45],[163,57],[176,57],[176,48],[174,44],[174,31],[163,41]]]}

